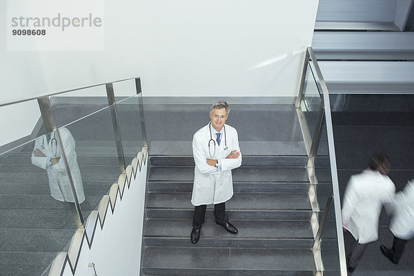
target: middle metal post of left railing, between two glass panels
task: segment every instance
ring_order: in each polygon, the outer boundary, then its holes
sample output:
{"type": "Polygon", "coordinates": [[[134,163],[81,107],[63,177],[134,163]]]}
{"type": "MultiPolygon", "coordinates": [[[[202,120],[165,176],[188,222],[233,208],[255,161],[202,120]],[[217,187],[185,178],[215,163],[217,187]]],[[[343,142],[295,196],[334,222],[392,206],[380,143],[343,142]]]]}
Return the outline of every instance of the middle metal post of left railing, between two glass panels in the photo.
{"type": "Polygon", "coordinates": [[[117,144],[119,168],[124,172],[126,168],[124,148],[122,147],[121,131],[119,130],[119,121],[117,114],[117,105],[115,100],[114,86],[112,83],[106,83],[106,95],[108,97],[108,106],[112,117],[112,127],[114,129],[115,143],[117,144]]]}

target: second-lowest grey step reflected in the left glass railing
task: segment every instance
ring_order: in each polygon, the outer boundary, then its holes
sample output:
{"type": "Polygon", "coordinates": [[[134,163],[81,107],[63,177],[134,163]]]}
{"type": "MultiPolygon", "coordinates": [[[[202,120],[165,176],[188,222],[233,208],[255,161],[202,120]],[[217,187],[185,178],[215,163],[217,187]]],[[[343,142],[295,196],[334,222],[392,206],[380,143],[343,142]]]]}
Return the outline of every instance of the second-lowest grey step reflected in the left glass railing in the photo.
{"type": "Polygon", "coordinates": [[[0,229],[0,252],[59,252],[75,232],[75,229],[0,229]]]}

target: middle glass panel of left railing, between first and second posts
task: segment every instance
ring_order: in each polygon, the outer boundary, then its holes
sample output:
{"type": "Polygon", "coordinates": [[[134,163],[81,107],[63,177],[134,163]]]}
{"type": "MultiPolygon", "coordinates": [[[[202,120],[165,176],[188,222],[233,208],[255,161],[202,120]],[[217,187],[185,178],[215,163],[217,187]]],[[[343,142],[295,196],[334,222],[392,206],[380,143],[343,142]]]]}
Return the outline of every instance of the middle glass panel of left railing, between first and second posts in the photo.
{"type": "Polygon", "coordinates": [[[100,199],[108,193],[124,171],[119,143],[115,135],[115,106],[89,115],[72,124],[59,128],[63,133],[63,146],[68,160],[75,160],[77,166],[71,170],[79,189],[79,203],[83,219],[96,210],[100,199]],[[68,146],[68,149],[66,149],[68,146]]]}

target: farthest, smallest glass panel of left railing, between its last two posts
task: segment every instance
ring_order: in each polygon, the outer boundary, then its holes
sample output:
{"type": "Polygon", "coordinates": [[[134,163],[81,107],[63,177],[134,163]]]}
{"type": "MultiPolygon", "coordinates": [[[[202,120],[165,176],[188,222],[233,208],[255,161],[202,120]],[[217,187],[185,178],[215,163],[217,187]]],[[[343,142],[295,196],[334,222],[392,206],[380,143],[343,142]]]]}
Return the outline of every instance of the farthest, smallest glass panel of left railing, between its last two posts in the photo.
{"type": "Polygon", "coordinates": [[[146,145],[144,110],[141,94],[117,102],[117,117],[121,132],[126,166],[146,145]]]}

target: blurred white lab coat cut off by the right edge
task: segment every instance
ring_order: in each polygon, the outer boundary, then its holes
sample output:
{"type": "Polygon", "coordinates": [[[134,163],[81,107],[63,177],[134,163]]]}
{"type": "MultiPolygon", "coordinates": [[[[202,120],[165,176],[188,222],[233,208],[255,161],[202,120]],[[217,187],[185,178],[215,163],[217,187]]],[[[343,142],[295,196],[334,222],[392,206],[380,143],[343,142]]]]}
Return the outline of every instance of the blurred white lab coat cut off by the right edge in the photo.
{"type": "Polygon", "coordinates": [[[395,195],[390,230],[399,239],[414,237],[414,179],[395,195]]]}

